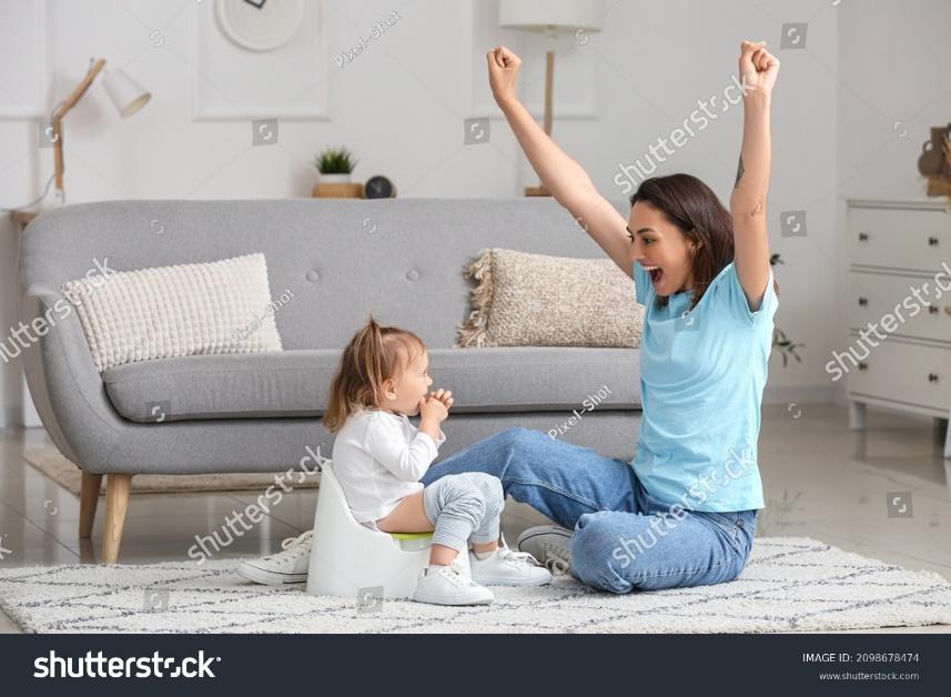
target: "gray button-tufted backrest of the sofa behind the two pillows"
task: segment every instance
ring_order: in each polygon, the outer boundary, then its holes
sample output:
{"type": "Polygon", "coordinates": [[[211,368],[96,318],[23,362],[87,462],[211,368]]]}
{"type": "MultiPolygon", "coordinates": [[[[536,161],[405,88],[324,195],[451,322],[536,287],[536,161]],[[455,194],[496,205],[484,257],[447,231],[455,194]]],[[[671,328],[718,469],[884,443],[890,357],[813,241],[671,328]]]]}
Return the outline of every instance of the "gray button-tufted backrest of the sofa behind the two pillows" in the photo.
{"type": "Polygon", "coordinates": [[[463,266],[488,248],[603,256],[553,199],[103,201],[23,231],[21,284],[59,290],[97,261],[131,271],[263,252],[272,300],[290,299],[275,312],[285,348],[340,348],[370,311],[445,348],[469,312],[463,266]]]}

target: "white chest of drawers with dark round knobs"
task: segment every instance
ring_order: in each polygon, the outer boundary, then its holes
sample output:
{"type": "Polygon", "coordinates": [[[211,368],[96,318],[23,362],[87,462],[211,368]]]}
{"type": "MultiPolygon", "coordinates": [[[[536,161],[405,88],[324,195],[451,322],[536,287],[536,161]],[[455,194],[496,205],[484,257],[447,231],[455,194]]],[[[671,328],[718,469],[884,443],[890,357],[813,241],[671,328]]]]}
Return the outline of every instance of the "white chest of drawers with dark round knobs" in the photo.
{"type": "Polygon", "coordinates": [[[943,202],[849,201],[850,422],[866,405],[948,418],[951,410],[951,214],[943,202]],[[945,271],[948,269],[948,271],[945,271]]]}

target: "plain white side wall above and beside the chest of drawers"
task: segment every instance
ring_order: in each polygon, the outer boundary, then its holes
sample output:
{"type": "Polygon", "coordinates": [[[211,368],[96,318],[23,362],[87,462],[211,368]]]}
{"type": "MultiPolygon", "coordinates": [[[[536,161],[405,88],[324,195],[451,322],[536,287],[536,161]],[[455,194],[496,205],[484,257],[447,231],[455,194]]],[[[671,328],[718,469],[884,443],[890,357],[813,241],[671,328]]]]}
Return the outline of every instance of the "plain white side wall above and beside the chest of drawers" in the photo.
{"type": "MultiPolygon", "coordinates": [[[[929,200],[918,158],[931,128],[951,122],[951,3],[867,0],[840,10],[838,219],[844,231],[847,199],[929,200]]],[[[840,240],[837,351],[851,341],[848,249],[844,235],[840,240]]],[[[844,382],[836,394],[840,402],[844,382]]]]}

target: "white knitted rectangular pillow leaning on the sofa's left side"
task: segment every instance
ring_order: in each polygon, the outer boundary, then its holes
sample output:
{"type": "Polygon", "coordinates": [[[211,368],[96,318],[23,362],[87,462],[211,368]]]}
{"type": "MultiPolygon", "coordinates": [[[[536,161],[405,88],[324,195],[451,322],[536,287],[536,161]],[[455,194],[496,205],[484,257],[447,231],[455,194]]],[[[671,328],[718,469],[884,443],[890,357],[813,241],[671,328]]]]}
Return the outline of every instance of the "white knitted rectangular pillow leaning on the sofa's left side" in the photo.
{"type": "Polygon", "coordinates": [[[94,275],[62,291],[100,372],[150,358],[281,351],[264,254],[94,275]]]}

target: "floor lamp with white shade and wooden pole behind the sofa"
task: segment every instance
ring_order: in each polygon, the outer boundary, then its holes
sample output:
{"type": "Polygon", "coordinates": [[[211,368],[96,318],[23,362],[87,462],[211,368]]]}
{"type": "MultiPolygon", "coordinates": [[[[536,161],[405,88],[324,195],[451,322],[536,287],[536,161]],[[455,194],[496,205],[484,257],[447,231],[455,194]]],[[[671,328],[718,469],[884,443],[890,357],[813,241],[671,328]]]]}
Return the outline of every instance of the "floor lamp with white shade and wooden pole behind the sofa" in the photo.
{"type": "MultiPolygon", "coordinates": [[[[555,82],[555,39],[557,34],[596,33],[603,29],[603,0],[500,0],[498,26],[544,33],[545,57],[545,132],[552,135],[552,92],[555,82]]],[[[526,186],[526,196],[549,196],[543,185],[526,186]]]]}

